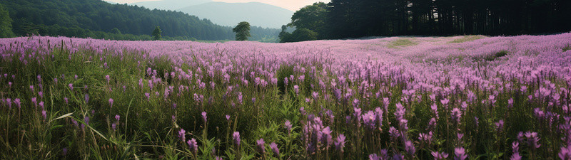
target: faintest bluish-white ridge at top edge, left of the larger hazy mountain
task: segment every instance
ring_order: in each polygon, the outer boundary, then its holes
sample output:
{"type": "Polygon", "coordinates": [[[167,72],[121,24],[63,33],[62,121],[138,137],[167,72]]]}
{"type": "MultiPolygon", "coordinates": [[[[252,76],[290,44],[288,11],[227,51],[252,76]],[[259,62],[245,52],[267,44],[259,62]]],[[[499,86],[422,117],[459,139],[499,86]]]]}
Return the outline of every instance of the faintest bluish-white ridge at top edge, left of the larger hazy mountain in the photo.
{"type": "Polygon", "coordinates": [[[174,11],[186,6],[193,6],[211,2],[212,0],[162,0],[162,1],[141,1],[130,5],[144,6],[148,9],[164,9],[174,11]]]}

